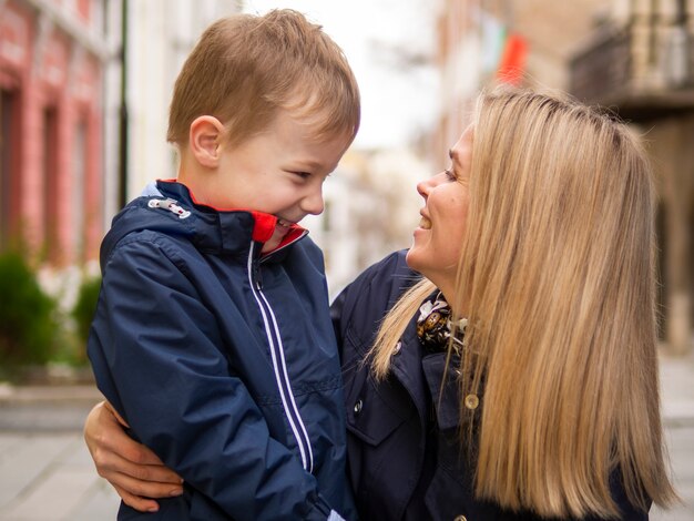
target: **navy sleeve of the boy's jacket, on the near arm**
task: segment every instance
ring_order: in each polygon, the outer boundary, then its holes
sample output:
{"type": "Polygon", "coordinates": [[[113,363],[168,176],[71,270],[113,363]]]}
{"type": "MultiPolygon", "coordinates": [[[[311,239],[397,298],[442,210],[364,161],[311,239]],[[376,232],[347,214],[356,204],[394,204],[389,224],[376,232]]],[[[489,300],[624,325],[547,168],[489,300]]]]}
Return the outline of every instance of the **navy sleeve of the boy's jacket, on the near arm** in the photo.
{"type": "Polygon", "coordinates": [[[215,321],[165,241],[125,238],[89,341],[100,389],[141,442],[234,519],[328,519],[315,478],[233,376],[215,321]]]}

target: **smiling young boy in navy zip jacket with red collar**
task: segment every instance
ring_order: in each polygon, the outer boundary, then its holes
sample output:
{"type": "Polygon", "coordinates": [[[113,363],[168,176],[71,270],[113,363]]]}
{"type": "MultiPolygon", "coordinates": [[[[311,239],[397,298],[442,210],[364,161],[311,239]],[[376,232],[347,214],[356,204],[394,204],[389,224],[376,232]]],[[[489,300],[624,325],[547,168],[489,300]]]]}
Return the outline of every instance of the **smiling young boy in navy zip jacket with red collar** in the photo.
{"type": "Polygon", "coordinates": [[[220,20],[186,60],[177,181],[114,218],[89,340],[99,388],[184,494],[120,519],[354,517],[323,256],[297,223],[358,125],[341,51],[297,12],[220,20]]]}

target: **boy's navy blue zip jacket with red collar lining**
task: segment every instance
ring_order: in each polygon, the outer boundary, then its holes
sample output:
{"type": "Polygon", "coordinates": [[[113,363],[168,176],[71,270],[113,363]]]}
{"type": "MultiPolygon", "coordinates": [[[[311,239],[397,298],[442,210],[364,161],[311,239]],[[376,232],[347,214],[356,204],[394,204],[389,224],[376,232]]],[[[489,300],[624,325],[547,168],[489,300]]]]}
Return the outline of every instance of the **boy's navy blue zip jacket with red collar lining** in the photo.
{"type": "Polygon", "coordinates": [[[157,188],[103,241],[89,356],[132,436],[185,493],[155,515],[122,504],[120,519],[353,517],[319,248],[296,227],[262,257],[273,216],[194,204],[174,182],[157,188]]]}

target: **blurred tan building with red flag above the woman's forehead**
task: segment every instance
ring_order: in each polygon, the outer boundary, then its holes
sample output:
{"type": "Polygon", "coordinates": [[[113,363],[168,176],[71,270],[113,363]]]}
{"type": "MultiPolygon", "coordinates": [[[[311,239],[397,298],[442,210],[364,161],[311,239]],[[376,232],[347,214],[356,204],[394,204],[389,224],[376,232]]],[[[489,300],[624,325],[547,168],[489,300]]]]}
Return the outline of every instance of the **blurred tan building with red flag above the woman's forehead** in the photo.
{"type": "Polygon", "coordinates": [[[435,153],[448,157],[470,121],[477,93],[502,74],[510,74],[511,82],[567,90],[569,61],[605,4],[603,0],[440,0],[442,92],[435,153]]]}

